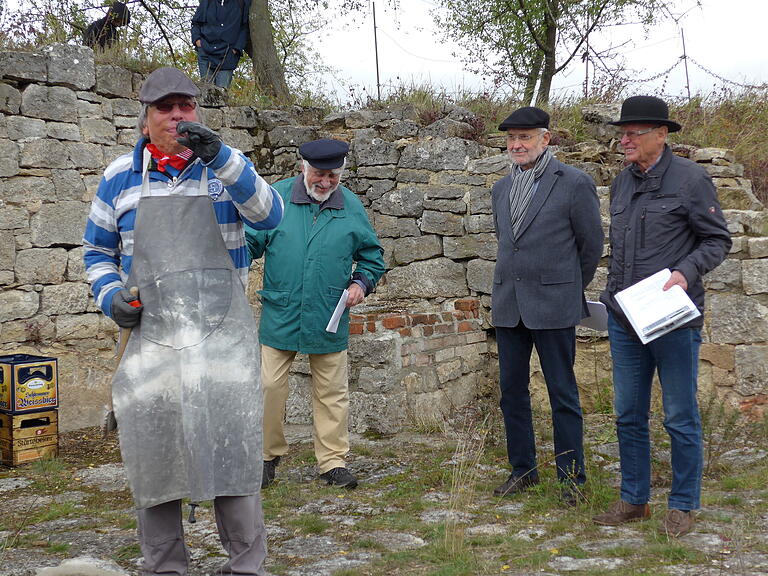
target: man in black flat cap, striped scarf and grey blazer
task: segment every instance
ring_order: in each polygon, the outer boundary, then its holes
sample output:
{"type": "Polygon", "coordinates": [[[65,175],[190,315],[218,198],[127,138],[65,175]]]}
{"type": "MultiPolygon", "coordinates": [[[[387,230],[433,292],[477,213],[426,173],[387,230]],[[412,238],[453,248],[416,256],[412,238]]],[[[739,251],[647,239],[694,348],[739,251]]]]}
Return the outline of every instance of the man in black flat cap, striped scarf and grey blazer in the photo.
{"type": "Polygon", "coordinates": [[[562,499],[574,504],[586,481],[575,326],[588,316],[584,289],[603,250],[599,203],[592,178],[547,147],[544,110],[515,110],[499,130],[507,132],[512,170],[491,191],[499,243],[491,313],[512,473],[494,494],[514,495],[539,481],[528,390],[535,346],[552,406],[562,499]]]}

